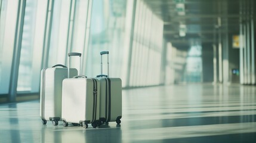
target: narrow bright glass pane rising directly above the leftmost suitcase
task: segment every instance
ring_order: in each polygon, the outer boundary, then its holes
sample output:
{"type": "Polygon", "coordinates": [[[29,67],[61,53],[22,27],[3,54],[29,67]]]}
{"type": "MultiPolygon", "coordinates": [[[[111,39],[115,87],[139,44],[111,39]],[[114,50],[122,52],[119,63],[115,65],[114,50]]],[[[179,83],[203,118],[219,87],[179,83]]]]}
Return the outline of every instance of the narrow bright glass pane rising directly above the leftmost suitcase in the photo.
{"type": "Polygon", "coordinates": [[[48,67],[66,63],[70,0],[55,0],[53,9],[48,67]]]}

